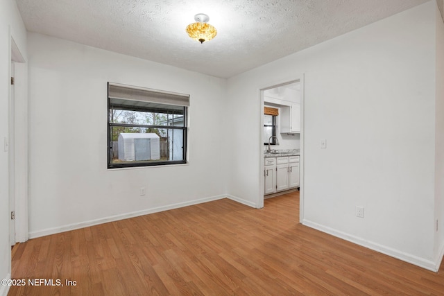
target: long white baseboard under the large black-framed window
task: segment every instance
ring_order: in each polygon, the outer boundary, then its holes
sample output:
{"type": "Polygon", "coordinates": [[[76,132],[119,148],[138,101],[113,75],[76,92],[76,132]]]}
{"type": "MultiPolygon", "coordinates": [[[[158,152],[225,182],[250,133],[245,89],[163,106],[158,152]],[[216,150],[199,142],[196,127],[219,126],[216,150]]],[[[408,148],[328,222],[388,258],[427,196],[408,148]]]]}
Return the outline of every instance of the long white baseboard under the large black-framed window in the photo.
{"type": "Polygon", "coordinates": [[[123,219],[133,218],[133,217],[137,217],[137,216],[158,213],[160,211],[167,211],[169,209],[178,209],[181,207],[188,207],[193,204],[201,204],[203,202],[211,202],[213,200],[221,200],[223,198],[228,198],[228,196],[227,195],[216,195],[216,196],[212,196],[210,198],[200,198],[198,200],[190,200],[189,202],[179,202],[177,204],[170,204],[170,205],[163,206],[163,207],[155,207],[153,209],[144,209],[142,211],[134,211],[132,213],[115,215],[115,216],[110,216],[110,217],[105,217],[105,218],[99,218],[99,219],[95,219],[95,220],[88,220],[85,222],[74,223],[74,224],[64,225],[64,226],[60,226],[60,227],[46,228],[46,229],[42,229],[42,230],[37,230],[35,232],[30,232],[29,238],[49,236],[51,234],[58,234],[60,232],[68,232],[68,231],[74,230],[74,229],[80,229],[80,228],[99,225],[99,224],[103,224],[103,223],[113,222],[113,221],[117,221],[117,220],[123,220],[123,219]]]}

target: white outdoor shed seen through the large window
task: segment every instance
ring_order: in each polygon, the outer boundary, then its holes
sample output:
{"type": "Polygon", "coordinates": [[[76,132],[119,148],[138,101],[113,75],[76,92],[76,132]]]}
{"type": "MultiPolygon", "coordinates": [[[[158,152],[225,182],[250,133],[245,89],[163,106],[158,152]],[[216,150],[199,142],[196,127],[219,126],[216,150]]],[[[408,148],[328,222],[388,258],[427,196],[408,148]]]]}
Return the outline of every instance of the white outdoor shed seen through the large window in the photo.
{"type": "Polygon", "coordinates": [[[149,133],[119,134],[119,159],[124,162],[160,159],[160,137],[149,133]]]}

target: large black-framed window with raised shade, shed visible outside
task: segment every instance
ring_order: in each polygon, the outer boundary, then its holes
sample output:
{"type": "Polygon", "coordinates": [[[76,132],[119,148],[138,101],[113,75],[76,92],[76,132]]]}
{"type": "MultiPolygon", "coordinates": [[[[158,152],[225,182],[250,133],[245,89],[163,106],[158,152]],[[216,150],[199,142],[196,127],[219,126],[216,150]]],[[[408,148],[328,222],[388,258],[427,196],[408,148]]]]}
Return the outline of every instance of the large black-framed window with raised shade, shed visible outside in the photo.
{"type": "Polygon", "coordinates": [[[108,82],[108,168],[185,164],[189,95],[108,82]]]}

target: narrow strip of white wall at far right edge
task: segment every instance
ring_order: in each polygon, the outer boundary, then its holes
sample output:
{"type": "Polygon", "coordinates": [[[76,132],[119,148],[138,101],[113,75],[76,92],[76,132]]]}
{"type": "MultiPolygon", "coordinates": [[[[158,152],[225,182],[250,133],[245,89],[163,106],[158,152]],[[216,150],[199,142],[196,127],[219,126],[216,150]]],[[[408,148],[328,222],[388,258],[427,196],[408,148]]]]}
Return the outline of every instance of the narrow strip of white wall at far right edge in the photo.
{"type": "MultiPolygon", "coordinates": [[[[443,2],[441,1],[441,4],[443,2]]],[[[436,167],[435,167],[435,219],[438,232],[435,238],[435,259],[444,255],[444,24],[436,10],[436,167]]]]}

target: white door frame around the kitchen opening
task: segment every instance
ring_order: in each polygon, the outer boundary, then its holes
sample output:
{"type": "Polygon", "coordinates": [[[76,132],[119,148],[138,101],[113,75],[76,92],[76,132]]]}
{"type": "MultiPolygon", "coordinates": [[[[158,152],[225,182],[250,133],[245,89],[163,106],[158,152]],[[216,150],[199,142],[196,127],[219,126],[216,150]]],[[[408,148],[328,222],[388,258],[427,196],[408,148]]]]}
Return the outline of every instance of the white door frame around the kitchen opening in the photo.
{"type": "Polygon", "coordinates": [[[260,99],[260,110],[259,114],[259,196],[257,197],[257,208],[264,207],[264,142],[262,141],[262,134],[264,129],[264,116],[262,114],[264,113],[264,91],[267,89],[273,89],[275,87],[280,87],[282,85],[289,85],[294,82],[300,82],[300,195],[299,195],[299,221],[302,223],[302,220],[304,220],[304,150],[305,150],[305,141],[304,141],[304,135],[305,135],[305,126],[304,126],[304,110],[305,110],[305,81],[304,81],[304,74],[299,74],[292,76],[291,78],[278,80],[277,82],[270,83],[267,85],[264,85],[264,87],[259,87],[259,99],[260,99]]]}

